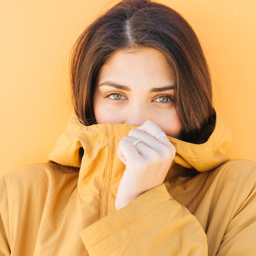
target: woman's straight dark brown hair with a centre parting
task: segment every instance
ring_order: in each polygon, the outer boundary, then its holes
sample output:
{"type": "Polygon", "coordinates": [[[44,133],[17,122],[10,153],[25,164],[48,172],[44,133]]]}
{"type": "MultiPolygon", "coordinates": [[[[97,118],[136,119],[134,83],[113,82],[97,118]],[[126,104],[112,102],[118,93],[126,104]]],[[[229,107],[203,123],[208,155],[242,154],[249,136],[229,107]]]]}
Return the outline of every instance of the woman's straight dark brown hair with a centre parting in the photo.
{"type": "Polygon", "coordinates": [[[196,143],[210,121],[216,119],[209,68],[189,23],[170,7],[150,0],[117,3],[76,40],[70,56],[70,82],[79,121],[85,126],[96,124],[92,99],[101,65],[117,50],[144,47],[158,49],[171,65],[182,140],[196,143]]]}

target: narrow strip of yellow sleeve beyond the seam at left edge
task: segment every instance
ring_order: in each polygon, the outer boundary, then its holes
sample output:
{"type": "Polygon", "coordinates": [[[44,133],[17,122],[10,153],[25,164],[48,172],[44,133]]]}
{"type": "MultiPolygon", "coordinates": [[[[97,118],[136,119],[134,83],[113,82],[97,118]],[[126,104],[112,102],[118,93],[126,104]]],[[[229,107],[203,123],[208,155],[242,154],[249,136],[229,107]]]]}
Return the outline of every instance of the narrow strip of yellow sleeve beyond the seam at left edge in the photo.
{"type": "Polygon", "coordinates": [[[0,178],[0,256],[10,256],[8,243],[8,204],[4,177],[0,178]]]}

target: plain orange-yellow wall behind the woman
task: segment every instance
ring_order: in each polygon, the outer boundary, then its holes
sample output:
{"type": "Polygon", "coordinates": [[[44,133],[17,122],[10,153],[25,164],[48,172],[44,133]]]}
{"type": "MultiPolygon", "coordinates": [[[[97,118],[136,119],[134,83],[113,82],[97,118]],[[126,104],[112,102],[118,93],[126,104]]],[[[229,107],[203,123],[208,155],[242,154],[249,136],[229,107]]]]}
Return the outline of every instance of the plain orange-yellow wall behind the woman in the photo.
{"type": "MultiPolygon", "coordinates": [[[[83,29],[117,1],[3,1],[0,175],[46,162],[72,112],[68,60],[83,29]]],[[[186,18],[209,63],[227,154],[256,161],[256,2],[162,0],[186,18]]]]}

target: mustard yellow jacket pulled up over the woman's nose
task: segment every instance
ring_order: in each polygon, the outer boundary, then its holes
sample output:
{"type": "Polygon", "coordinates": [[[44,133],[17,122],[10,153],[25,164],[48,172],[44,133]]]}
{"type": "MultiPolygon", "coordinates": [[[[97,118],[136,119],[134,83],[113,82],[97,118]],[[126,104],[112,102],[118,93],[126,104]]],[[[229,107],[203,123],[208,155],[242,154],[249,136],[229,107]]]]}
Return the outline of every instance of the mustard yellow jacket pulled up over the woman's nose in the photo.
{"type": "Polygon", "coordinates": [[[0,256],[255,256],[256,162],[225,155],[220,115],[207,142],[168,137],[164,183],[116,210],[117,146],[134,128],[72,114],[49,162],[1,177],[0,256]]]}

